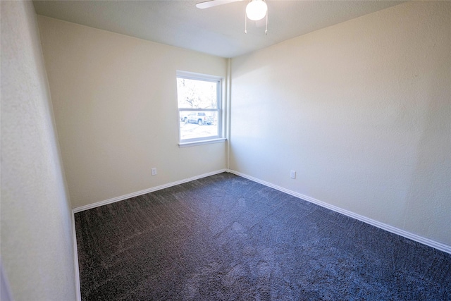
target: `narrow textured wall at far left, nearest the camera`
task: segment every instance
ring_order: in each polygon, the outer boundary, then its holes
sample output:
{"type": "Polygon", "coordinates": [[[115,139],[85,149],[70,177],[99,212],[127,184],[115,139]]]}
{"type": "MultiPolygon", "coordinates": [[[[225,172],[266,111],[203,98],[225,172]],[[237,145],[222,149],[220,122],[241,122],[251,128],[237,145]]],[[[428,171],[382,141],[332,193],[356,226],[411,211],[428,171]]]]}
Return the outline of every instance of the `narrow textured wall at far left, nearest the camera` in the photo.
{"type": "Polygon", "coordinates": [[[1,264],[16,301],[75,300],[70,204],[35,8],[0,5],[1,264]]]}

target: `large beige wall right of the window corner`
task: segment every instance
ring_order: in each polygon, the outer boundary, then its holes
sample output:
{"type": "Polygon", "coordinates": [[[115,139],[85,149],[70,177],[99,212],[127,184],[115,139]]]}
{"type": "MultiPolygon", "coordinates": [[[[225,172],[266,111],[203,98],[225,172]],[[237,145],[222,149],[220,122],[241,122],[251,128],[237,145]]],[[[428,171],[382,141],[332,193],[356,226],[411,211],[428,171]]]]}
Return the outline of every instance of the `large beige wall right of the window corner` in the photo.
{"type": "Polygon", "coordinates": [[[451,245],[450,16],[412,1],[233,59],[230,169],[451,245]]]}

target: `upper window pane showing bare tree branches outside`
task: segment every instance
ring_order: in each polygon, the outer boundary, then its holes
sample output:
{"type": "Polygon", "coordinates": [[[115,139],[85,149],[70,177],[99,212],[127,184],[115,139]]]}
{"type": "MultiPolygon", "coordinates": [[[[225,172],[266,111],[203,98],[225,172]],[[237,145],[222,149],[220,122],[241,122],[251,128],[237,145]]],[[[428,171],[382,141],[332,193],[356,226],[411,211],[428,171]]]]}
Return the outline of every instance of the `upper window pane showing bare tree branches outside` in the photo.
{"type": "Polygon", "coordinates": [[[218,82],[177,78],[179,109],[217,109],[218,82]]]}

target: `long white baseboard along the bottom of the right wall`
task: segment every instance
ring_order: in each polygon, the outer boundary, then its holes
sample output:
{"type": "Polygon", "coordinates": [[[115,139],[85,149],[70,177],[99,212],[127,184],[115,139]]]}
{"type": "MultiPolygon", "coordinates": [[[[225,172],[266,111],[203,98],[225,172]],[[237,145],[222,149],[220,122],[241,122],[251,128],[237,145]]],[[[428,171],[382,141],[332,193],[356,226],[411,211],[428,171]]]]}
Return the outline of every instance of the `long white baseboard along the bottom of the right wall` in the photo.
{"type": "Polygon", "coordinates": [[[280,187],[278,185],[274,185],[272,183],[268,183],[268,182],[266,182],[264,180],[260,180],[258,178],[254,178],[252,176],[248,176],[245,173],[240,173],[238,171],[233,171],[233,170],[228,170],[228,172],[229,173],[234,173],[235,175],[240,176],[242,178],[247,178],[248,180],[252,180],[254,182],[257,182],[257,183],[263,184],[265,186],[274,188],[274,189],[279,190],[281,192],[285,192],[288,195],[292,195],[293,197],[299,197],[299,199],[304,199],[304,200],[306,200],[308,202],[317,204],[317,205],[319,205],[321,207],[330,209],[332,211],[336,211],[336,212],[338,212],[340,214],[344,214],[345,216],[350,216],[350,217],[352,217],[352,219],[357,219],[359,221],[363,221],[364,223],[369,223],[370,225],[376,226],[377,228],[381,228],[381,229],[383,229],[385,231],[388,231],[388,232],[400,235],[400,236],[402,236],[404,238],[409,238],[410,240],[414,240],[416,242],[420,242],[420,243],[422,243],[424,245],[428,245],[429,247],[433,247],[433,248],[435,248],[437,250],[440,250],[440,251],[447,252],[447,253],[451,254],[451,246],[450,245],[445,245],[445,244],[443,244],[441,242],[436,242],[435,240],[431,240],[429,238],[424,238],[422,236],[419,236],[419,235],[416,235],[416,234],[404,231],[404,230],[402,230],[400,228],[396,228],[396,227],[387,225],[386,223],[381,223],[380,221],[375,221],[373,219],[369,219],[366,216],[355,214],[352,211],[347,211],[345,209],[342,209],[340,207],[336,207],[336,206],[328,204],[326,202],[321,202],[319,199],[314,199],[313,197],[309,197],[307,195],[302,195],[302,194],[300,194],[298,192],[285,189],[285,188],[280,187]]]}

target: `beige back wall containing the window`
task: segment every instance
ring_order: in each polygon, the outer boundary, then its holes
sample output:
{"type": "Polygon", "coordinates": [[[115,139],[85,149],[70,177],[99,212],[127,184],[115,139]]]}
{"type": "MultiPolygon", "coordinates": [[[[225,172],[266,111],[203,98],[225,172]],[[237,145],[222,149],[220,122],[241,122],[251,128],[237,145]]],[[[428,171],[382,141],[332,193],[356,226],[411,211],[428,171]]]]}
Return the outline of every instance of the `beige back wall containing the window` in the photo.
{"type": "Polygon", "coordinates": [[[226,142],[178,147],[175,81],[176,70],[226,78],[226,59],[38,21],[73,208],[227,167],[226,142]]]}

